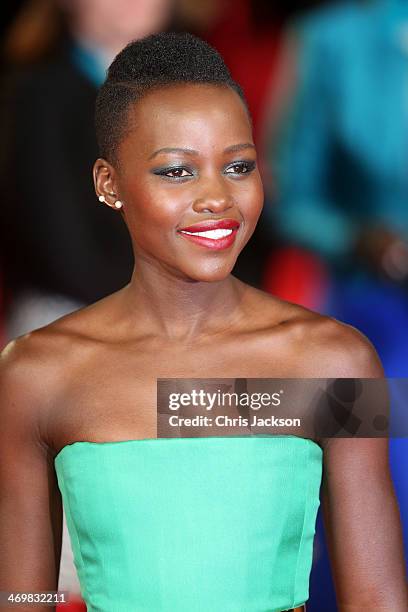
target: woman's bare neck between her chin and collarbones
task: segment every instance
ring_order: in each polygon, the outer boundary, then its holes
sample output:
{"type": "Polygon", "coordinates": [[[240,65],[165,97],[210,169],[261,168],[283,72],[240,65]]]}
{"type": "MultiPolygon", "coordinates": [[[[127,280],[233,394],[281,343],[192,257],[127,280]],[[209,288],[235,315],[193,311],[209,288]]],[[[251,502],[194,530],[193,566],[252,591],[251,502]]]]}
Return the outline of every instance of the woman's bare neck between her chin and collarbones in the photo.
{"type": "Polygon", "coordinates": [[[188,343],[240,318],[245,285],[235,277],[191,281],[144,264],[135,267],[124,289],[127,314],[140,329],[188,343]]]}

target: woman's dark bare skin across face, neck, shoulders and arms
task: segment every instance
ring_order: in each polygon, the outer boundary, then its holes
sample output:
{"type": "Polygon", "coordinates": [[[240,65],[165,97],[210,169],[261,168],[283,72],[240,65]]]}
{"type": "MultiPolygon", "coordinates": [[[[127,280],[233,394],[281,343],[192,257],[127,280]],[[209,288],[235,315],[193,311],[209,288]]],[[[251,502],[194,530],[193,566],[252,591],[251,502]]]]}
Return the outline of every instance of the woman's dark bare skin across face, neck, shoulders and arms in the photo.
{"type": "MultiPolygon", "coordinates": [[[[0,589],[57,588],[62,507],[54,458],[75,441],[155,438],[157,378],[383,377],[355,329],[231,275],[263,201],[250,121],[233,90],[151,91],[129,109],[128,128],[118,160],[98,159],[94,179],[96,194],[129,228],[137,261],[130,283],[2,355],[0,589]],[[178,169],[163,175],[169,166],[178,169]],[[223,251],[177,231],[223,218],[241,224],[223,251]]],[[[405,611],[387,439],[315,442],[324,451],[322,505],[338,609],[405,611]]]]}

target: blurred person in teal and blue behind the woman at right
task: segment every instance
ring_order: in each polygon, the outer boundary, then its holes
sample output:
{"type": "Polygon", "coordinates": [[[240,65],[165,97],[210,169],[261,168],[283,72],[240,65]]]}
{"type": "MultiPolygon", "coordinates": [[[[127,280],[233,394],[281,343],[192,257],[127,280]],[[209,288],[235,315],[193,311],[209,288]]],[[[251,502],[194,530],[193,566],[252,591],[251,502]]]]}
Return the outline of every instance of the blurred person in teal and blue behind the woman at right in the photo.
{"type": "MultiPolygon", "coordinates": [[[[314,259],[309,284],[327,274],[309,306],[360,329],[386,374],[405,377],[408,3],[339,2],[299,20],[288,40],[296,90],[280,140],[275,129],[267,145],[276,200],[265,212],[293,248],[275,271],[302,285],[302,262],[314,259]]],[[[408,550],[407,442],[391,440],[390,458],[408,550]]]]}

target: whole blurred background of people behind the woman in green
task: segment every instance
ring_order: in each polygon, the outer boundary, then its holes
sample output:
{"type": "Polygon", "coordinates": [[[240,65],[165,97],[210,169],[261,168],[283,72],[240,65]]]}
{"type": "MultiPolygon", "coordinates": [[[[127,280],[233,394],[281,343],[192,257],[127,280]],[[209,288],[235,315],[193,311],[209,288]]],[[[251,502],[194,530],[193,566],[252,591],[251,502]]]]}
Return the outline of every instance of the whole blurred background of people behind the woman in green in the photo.
{"type": "MultiPolygon", "coordinates": [[[[94,194],[93,112],[130,40],[214,45],[253,115],[265,208],[235,275],[366,334],[408,371],[407,0],[2,3],[0,345],[125,285],[119,215],[94,194]]],[[[408,440],[391,441],[408,550],[408,440]]],[[[61,607],[85,610],[64,525],[61,607]]],[[[319,513],[308,612],[335,612],[319,513]]]]}

